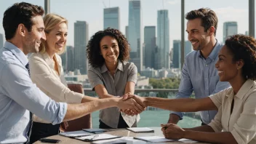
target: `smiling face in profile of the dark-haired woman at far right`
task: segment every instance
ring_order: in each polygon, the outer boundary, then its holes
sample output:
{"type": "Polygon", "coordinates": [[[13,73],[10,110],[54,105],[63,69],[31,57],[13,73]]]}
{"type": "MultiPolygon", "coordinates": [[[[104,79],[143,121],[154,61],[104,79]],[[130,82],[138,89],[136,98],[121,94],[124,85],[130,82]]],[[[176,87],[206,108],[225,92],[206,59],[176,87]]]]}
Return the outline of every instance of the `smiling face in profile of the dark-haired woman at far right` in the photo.
{"type": "Polygon", "coordinates": [[[223,46],[219,52],[219,60],[215,64],[218,74],[220,76],[220,81],[232,81],[239,76],[239,70],[241,65],[239,62],[233,61],[233,55],[227,46],[223,46]]]}

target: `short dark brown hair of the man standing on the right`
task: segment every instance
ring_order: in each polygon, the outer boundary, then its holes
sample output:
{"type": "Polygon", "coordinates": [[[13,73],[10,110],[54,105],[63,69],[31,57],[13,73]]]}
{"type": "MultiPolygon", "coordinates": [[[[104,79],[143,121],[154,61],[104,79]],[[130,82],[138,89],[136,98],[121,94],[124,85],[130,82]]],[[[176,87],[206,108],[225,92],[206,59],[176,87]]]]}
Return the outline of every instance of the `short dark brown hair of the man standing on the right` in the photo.
{"type": "Polygon", "coordinates": [[[217,31],[217,15],[212,9],[209,8],[201,8],[192,10],[191,12],[188,12],[185,14],[186,20],[194,20],[196,18],[201,19],[201,26],[204,27],[204,31],[207,32],[207,30],[213,26],[215,27],[215,36],[217,31]]]}

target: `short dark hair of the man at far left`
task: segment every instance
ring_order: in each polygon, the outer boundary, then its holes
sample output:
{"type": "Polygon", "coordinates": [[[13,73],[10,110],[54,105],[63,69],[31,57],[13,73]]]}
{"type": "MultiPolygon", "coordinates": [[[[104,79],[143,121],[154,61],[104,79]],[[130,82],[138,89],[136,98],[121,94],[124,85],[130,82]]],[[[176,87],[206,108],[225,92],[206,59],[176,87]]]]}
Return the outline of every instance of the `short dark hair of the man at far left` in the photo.
{"type": "Polygon", "coordinates": [[[9,7],[4,12],[3,26],[5,39],[9,40],[15,36],[17,26],[20,23],[23,23],[25,28],[31,31],[33,25],[31,18],[37,15],[44,15],[44,9],[42,7],[25,2],[13,4],[12,7],[9,7]]]}

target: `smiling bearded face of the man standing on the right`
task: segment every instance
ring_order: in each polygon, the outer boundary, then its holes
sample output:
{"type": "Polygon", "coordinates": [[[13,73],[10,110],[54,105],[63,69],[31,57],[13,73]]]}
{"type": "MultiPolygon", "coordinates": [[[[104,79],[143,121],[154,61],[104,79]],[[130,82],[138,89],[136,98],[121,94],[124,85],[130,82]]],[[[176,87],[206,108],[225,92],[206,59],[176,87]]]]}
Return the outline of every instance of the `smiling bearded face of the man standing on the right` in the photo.
{"type": "Polygon", "coordinates": [[[193,50],[201,50],[207,46],[210,41],[208,31],[204,31],[204,27],[201,26],[201,19],[196,18],[188,20],[187,23],[188,40],[191,41],[193,50]]]}

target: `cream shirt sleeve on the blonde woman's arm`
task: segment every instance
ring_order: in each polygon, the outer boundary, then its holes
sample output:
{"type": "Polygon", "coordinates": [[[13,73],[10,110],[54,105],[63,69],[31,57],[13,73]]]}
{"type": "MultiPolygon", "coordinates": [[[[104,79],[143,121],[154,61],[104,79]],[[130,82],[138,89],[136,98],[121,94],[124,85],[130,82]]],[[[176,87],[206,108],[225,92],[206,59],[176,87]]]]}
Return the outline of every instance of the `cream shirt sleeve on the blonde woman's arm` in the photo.
{"type": "Polygon", "coordinates": [[[39,58],[31,58],[29,60],[31,69],[31,79],[40,88],[46,89],[49,92],[51,98],[55,100],[61,100],[66,103],[81,103],[83,94],[73,92],[63,84],[60,79],[51,73],[49,66],[46,63],[42,63],[39,58]]]}

